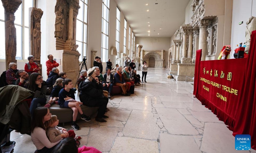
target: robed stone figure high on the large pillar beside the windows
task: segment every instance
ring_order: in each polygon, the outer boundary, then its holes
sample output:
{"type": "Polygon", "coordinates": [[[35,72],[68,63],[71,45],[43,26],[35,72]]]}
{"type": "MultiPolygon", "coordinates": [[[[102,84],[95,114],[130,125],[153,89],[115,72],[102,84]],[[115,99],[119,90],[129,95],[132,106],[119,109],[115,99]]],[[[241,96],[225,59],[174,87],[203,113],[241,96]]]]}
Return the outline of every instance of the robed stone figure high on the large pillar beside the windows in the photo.
{"type": "Polygon", "coordinates": [[[56,19],[55,19],[55,37],[58,37],[60,39],[63,38],[63,28],[65,24],[64,15],[62,13],[62,6],[58,5],[57,10],[55,12],[56,19]]]}

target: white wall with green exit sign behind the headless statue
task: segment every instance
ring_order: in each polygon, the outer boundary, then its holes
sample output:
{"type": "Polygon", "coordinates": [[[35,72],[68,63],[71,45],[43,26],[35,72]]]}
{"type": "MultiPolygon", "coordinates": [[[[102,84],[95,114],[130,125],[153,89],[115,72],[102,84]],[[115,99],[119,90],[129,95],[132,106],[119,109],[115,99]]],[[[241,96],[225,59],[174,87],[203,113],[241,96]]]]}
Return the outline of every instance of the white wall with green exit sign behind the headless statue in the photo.
{"type": "Polygon", "coordinates": [[[256,17],[256,1],[255,0],[233,0],[233,15],[231,29],[231,49],[230,57],[233,57],[236,44],[245,42],[246,22],[251,16],[256,17]],[[243,21],[242,25],[238,25],[243,21]]]}

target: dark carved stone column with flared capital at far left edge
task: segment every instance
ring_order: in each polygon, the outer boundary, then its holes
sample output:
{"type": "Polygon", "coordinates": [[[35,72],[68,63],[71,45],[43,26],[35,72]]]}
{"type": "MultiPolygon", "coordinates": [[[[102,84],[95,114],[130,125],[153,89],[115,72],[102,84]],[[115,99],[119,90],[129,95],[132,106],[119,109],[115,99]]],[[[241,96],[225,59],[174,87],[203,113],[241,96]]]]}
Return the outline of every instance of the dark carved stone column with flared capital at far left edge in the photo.
{"type": "MultiPolygon", "coordinates": [[[[5,67],[9,69],[11,62],[17,63],[17,35],[14,25],[14,13],[18,10],[21,0],[1,0],[4,7],[4,29],[5,29],[5,67]]],[[[3,12],[1,12],[3,13],[3,12]]]]}

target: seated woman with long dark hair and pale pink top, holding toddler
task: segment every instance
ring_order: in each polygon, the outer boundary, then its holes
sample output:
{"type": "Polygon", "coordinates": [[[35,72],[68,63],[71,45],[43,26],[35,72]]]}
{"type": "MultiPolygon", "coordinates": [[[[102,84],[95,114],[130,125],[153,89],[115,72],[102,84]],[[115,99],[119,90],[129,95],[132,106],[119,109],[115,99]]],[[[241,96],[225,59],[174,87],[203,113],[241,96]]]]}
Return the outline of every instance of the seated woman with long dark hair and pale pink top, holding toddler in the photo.
{"type": "Polygon", "coordinates": [[[32,116],[31,140],[36,146],[37,153],[51,153],[54,146],[61,140],[52,143],[46,136],[44,123],[51,119],[51,113],[48,108],[36,108],[32,116]]]}

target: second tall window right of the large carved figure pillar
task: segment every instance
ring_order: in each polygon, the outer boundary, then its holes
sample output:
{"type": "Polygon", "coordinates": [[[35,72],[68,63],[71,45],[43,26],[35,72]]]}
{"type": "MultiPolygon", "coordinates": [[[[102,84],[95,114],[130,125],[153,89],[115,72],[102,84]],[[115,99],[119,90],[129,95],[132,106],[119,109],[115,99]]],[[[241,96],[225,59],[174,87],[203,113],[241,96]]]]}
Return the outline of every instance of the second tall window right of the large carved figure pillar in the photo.
{"type": "Polygon", "coordinates": [[[102,0],[101,60],[108,60],[109,0],[102,0]]]}

